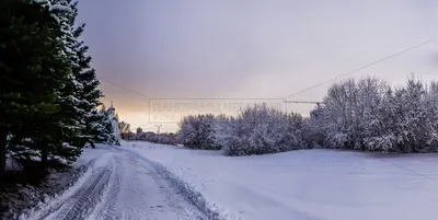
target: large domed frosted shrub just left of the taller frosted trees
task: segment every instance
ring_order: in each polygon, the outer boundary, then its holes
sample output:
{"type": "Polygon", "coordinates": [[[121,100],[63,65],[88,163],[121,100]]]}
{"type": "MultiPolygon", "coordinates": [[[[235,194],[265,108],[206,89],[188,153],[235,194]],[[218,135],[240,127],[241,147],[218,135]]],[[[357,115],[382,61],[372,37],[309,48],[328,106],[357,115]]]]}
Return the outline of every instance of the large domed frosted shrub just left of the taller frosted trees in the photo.
{"type": "Polygon", "coordinates": [[[250,155],[284,152],[303,148],[303,119],[255,104],[238,117],[218,120],[217,141],[227,155],[250,155]]]}

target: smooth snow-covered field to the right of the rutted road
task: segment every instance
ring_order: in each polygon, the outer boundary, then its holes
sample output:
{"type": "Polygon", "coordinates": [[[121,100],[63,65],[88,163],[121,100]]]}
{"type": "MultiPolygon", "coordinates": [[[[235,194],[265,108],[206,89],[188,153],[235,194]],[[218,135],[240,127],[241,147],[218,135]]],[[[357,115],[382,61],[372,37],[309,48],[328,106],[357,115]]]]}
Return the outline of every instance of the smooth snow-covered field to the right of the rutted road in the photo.
{"type": "Polygon", "coordinates": [[[215,219],[438,219],[437,154],[301,150],[229,158],[147,142],[124,146],[155,162],[215,219]]]}

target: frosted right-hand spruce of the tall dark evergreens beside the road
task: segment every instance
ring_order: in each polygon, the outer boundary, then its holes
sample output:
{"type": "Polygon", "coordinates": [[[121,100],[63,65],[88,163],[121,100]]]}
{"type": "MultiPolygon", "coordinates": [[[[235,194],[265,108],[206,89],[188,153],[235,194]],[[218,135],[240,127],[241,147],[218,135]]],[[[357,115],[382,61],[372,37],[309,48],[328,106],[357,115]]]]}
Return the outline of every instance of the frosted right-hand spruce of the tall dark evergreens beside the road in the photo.
{"type": "Polygon", "coordinates": [[[66,45],[64,53],[68,57],[70,63],[69,82],[67,83],[67,93],[64,94],[62,113],[70,113],[70,117],[76,118],[74,121],[67,121],[65,129],[70,129],[72,134],[69,142],[74,146],[82,147],[92,138],[93,131],[91,124],[96,119],[93,114],[101,103],[103,96],[97,89],[100,82],[95,77],[94,69],[91,68],[91,57],[88,55],[88,46],[80,39],[84,24],[77,23],[78,1],[72,0],[51,0],[51,10],[68,11],[57,15],[62,27],[62,40],[66,45]]]}

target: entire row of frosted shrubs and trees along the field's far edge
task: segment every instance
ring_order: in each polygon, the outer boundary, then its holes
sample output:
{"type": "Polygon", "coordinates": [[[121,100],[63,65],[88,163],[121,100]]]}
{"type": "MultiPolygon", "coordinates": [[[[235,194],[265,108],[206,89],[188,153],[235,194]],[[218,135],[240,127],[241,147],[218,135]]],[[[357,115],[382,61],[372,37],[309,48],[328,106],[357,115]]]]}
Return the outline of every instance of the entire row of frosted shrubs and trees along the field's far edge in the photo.
{"type": "Polygon", "coordinates": [[[178,140],[227,155],[331,148],[382,152],[438,151],[438,83],[408,78],[392,88],[377,78],[330,86],[309,117],[255,104],[238,116],[189,115],[178,140]]]}

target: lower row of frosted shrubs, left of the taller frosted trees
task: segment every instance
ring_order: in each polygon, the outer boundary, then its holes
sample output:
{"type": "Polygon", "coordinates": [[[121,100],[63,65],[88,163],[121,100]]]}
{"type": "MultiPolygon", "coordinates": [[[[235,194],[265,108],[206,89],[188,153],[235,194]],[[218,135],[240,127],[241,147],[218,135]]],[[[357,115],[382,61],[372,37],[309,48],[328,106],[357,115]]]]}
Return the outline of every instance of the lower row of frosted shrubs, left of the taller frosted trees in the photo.
{"type": "Polygon", "coordinates": [[[256,104],[238,117],[224,115],[186,116],[180,123],[181,143],[196,149],[223,149],[227,155],[249,155],[301,149],[306,121],[256,104]]]}

